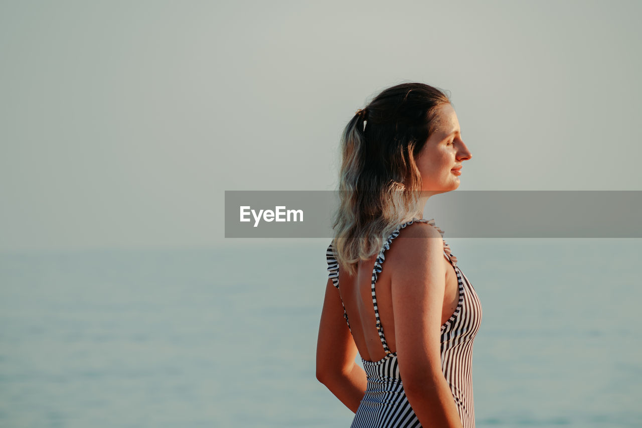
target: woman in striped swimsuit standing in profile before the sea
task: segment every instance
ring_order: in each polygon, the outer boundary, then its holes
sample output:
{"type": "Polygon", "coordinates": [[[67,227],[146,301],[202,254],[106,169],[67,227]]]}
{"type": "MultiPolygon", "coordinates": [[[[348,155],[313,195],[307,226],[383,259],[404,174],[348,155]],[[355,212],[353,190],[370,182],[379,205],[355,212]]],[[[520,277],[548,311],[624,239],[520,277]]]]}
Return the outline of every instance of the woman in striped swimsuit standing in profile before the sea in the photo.
{"type": "Polygon", "coordinates": [[[348,123],[342,154],[317,379],[356,413],[354,428],[473,428],[482,307],[423,218],[471,159],[455,110],[429,85],[390,87],[348,123]]]}

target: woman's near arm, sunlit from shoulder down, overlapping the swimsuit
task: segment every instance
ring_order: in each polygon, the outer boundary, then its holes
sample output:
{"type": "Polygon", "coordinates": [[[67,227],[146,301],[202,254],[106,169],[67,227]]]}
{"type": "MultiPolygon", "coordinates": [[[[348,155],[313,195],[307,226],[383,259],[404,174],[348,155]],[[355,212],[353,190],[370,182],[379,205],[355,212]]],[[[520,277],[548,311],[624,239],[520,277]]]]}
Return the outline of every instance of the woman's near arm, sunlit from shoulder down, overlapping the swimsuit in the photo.
{"type": "Polygon", "coordinates": [[[395,241],[392,273],[395,345],[404,391],[424,427],[462,428],[441,367],[441,314],[446,287],[444,242],[431,226],[395,241]],[[417,239],[420,238],[420,239],[417,239]]]}

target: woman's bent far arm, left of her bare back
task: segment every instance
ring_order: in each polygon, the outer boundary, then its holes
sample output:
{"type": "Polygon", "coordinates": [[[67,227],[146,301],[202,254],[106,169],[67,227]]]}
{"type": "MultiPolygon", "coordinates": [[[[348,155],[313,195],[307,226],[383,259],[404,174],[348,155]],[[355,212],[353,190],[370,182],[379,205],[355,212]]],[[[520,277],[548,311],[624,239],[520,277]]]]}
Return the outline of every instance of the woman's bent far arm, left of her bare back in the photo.
{"type": "Polygon", "coordinates": [[[317,379],[354,413],[367,384],[365,371],[354,362],[357,352],[343,317],[339,290],[329,279],[317,340],[317,379]]]}

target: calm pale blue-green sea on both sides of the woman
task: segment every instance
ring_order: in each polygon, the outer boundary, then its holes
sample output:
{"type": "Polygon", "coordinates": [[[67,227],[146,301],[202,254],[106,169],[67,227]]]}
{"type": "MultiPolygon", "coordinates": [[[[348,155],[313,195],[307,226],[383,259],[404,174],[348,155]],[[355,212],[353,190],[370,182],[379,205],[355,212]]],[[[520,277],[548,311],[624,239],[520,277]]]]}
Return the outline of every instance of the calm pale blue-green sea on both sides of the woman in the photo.
{"type": "MultiPolygon", "coordinates": [[[[642,426],[642,240],[447,240],[478,427],[642,426]]],[[[0,427],[347,427],[325,247],[0,255],[0,427]]]]}

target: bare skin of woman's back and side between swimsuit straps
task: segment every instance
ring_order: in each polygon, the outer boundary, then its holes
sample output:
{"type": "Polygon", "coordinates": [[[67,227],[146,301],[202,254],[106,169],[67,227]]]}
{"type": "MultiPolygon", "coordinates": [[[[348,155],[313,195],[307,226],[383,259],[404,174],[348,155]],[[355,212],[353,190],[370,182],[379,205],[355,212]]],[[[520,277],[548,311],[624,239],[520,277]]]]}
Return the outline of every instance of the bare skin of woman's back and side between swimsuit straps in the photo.
{"type": "MultiPolygon", "coordinates": [[[[395,239],[395,244],[385,251],[385,269],[377,274],[376,302],[381,322],[381,329],[385,332],[386,342],[390,352],[396,352],[395,344],[395,317],[392,305],[392,284],[395,272],[401,269],[412,269],[404,263],[399,254],[417,244],[418,227],[433,227],[429,224],[415,223],[406,227],[403,233],[395,239]]],[[[346,272],[338,274],[338,287],[345,313],[354,338],[354,343],[366,361],[379,361],[386,356],[376,328],[376,316],[373,306],[372,277],[377,255],[369,260],[362,260],[356,267],[356,274],[349,276],[346,272]]],[[[459,287],[455,269],[449,262],[446,254],[442,262],[446,265],[444,278],[444,301],[442,303],[441,322],[444,325],[455,312],[459,301],[459,287]]],[[[396,284],[395,284],[396,285],[396,284]]]]}

